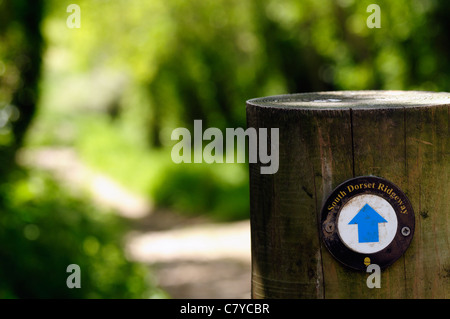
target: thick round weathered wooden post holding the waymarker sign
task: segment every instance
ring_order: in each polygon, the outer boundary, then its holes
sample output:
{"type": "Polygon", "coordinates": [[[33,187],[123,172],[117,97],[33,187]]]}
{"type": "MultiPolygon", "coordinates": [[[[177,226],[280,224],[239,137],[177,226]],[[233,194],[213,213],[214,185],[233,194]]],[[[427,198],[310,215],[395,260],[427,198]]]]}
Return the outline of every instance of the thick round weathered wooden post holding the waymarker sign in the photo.
{"type": "Polygon", "coordinates": [[[250,164],[253,298],[450,297],[450,94],[344,91],[247,101],[247,125],[279,128],[279,169],[250,164]],[[342,182],[390,180],[415,211],[411,245],[368,288],[326,249],[321,210],[342,182]]]}

